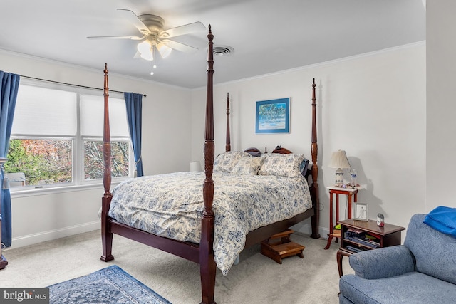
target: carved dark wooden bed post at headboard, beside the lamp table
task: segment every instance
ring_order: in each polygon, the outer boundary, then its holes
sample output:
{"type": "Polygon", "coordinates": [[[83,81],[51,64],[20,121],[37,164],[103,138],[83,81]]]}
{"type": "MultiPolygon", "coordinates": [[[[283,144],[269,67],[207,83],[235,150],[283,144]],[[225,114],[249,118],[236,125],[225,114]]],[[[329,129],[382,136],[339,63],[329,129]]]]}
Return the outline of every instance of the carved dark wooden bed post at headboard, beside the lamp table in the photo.
{"type": "Polygon", "coordinates": [[[314,205],[314,216],[311,217],[312,225],[312,234],[311,238],[320,239],[320,234],[318,233],[318,219],[320,218],[320,199],[318,195],[318,144],[316,139],[316,97],[315,97],[315,78],[314,83],[312,83],[312,145],[311,145],[311,154],[312,154],[312,203],[314,205]]]}

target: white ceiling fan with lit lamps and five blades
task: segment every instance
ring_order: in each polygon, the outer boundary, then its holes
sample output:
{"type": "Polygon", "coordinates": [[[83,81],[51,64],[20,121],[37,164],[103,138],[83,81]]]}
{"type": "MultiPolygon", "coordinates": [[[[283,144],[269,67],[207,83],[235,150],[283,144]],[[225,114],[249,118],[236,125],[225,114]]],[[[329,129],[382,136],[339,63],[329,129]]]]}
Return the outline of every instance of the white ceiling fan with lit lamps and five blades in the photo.
{"type": "MultiPolygon", "coordinates": [[[[169,38],[187,35],[195,31],[205,30],[206,27],[201,22],[188,23],[183,26],[175,28],[165,28],[165,21],[160,16],[151,14],[142,14],[136,16],[133,11],[129,9],[117,9],[120,11],[125,19],[128,19],[135,28],[138,28],[142,36],[89,36],[89,39],[130,39],[142,41],[138,43],[138,52],[140,57],[152,61],[152,68],[156,68],[153,64],[155,58],[155,50],[158,50],[162,58],[170,55],[172,49],[190,53],[197,51],[198,48],[188,46],[187,44],[172,41],[169,38]]],[[[153,72],[150,73],[153,75],[153,72]]]]}

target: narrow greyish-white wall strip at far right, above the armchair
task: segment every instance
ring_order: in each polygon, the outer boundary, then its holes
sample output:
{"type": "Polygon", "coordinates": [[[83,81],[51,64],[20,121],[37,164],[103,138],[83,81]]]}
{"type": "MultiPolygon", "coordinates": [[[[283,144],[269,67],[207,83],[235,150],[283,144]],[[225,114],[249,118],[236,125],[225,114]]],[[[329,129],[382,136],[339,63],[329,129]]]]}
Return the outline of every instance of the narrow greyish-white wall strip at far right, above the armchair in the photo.
{"type": "Polygon", "coordinates": [[[455,1],[427,0],[427,211],[456,206],[455,14],[455,1]]]}

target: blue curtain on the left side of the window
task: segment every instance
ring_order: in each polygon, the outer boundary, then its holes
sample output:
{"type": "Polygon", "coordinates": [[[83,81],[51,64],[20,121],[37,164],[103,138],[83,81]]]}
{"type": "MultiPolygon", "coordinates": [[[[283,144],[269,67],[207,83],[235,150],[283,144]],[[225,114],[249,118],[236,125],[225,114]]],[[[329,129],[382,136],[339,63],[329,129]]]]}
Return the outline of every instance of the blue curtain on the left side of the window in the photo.
{"type": "MultiPolygon", "coordinates": [[[[19,78],[19,75],[0,70],[0,157],[6,157],[8,154],[19,78]]],[[[9,247],[11,246],[11,194],[9,187],[3,187],[3,177],[4,174],[1,172],[1,246],[9,247]]]]}

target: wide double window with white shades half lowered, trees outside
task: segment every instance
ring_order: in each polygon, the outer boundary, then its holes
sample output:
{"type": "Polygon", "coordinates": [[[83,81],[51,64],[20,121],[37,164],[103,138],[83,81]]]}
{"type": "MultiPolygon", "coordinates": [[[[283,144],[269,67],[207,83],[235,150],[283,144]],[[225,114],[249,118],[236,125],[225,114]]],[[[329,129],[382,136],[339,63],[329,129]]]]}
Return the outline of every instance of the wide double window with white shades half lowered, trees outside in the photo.
{"type": "MultiPolygon", "coordinates": [[[[125,100],[110,96],[109,102],[111,169],[114,180],[123,179],[134,164],[125,100]]],[[[19,85],[5,170],[17,189],[101,182],[103,95],[19,85]]]]}

